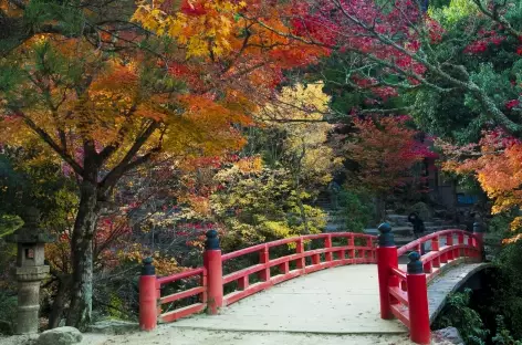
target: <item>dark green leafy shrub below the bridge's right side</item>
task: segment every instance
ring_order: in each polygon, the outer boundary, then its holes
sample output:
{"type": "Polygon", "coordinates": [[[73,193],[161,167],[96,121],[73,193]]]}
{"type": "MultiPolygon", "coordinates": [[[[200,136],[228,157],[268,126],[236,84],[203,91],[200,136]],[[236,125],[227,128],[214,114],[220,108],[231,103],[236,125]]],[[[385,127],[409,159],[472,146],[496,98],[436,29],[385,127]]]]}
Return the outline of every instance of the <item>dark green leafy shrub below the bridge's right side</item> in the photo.
{"type": "Polygon", "coordinates": [[[468,345],[484,345],[489,331],[484,330],[479,313],[470,307],[471,290],[448,296],[441,315],[436,321],[436,328],[453,326],[468,345]]]}

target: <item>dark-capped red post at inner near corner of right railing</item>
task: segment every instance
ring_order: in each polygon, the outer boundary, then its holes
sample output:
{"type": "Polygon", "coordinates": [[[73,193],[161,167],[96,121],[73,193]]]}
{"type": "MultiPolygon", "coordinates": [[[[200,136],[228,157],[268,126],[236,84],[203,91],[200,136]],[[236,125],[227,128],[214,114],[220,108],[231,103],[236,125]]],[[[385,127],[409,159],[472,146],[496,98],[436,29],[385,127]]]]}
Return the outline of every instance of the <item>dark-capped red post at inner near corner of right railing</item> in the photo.
{"type": "Polygon", "coordinates": [[[379,280],[380,317],[393,318],[392,299],[389,286],[397,286],[397,279],[392,276],[392,268],[398,268],[397,247],[395,245],[392,227],[382,223],[378,227],[380,232],[377,248],[377,272],[379,280]]]}

